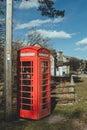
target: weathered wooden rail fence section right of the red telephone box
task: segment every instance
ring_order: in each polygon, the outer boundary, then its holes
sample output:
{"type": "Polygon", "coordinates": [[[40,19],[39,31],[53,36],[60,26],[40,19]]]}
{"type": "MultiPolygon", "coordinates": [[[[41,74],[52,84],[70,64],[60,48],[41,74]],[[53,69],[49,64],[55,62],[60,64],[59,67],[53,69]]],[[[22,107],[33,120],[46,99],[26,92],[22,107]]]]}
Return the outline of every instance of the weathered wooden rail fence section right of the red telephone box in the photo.
{"type": "Polygon", "coordinates": [[[51,98],[56,104],[74,103],[76,100],[75,84],[70,82],[56,83],[52,87],[51,98]]]}

